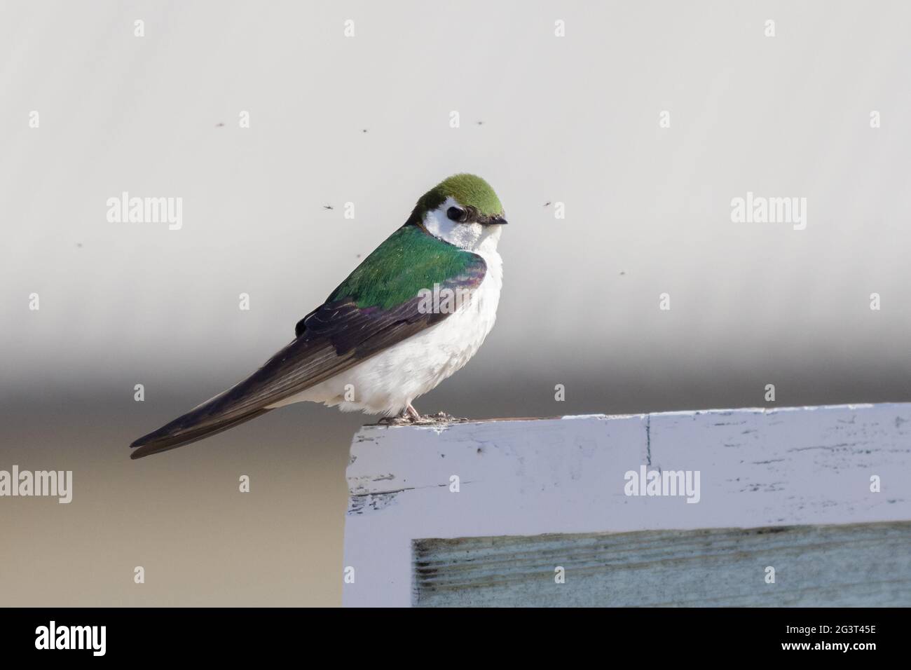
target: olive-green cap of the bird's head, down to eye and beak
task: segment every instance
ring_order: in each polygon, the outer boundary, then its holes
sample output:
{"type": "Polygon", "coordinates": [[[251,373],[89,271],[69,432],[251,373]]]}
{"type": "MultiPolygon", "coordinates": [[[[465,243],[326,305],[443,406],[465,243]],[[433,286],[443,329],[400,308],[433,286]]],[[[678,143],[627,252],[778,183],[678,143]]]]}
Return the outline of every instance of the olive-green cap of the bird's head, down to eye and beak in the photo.
{"type": "Polygon", "coordinates": [[[411,220],[424,222],[427,214],[445,211],[453,223],[506,223],[503,205],[485,180],[473,174],[454,174],[440,181],[417,201],[411,220]]]}

